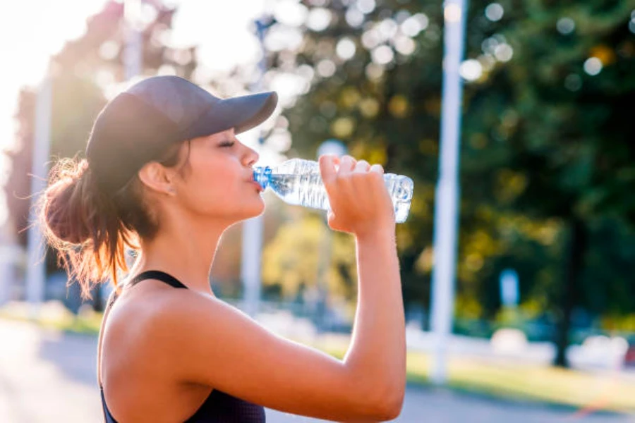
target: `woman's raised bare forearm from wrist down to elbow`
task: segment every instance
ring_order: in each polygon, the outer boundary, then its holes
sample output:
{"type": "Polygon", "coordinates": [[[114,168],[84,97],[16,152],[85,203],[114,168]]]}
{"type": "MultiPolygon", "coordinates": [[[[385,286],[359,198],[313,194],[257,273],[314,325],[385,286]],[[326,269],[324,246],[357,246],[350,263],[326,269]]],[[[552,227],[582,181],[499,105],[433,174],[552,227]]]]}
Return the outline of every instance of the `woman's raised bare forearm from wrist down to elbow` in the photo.
{"type": "Polygon", "coordinates": [[[402,395],[406,334],[394,231],[357,238],[358,305],[345,364],[365,383],[402,395]]]}

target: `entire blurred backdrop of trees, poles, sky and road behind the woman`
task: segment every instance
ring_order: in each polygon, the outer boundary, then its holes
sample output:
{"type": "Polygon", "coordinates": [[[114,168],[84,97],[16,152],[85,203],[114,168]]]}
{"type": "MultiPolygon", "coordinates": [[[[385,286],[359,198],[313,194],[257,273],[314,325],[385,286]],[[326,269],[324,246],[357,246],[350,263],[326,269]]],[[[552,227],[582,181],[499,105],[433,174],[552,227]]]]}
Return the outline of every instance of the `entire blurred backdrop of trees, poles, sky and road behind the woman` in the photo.
{"type": "MultiPolygon", "coordinates": [[[[220,97],[277,91],[274,117],[240,137],[260,164],[330,148],[414,180],[397,227],[409,386],[395,421],[635,421],[634,0],[3,7],[1,422],[101,418],[109,287],[83,302],[30,209],[50,161],[82,157],[102,106],[150,75],[220,97]]],[[[265,201],[224,236],[212,289],[343,357],[353,239],[265,201]]]]}

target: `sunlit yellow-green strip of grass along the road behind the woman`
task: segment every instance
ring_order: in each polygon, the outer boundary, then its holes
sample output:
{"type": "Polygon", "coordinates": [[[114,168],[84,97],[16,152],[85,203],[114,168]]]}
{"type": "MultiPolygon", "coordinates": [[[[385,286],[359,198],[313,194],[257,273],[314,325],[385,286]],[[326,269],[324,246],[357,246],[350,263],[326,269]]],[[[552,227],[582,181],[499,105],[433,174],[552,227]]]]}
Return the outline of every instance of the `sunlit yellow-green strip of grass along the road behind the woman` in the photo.
{"type": "MultiPolygon", "coordinates": [[[[71,333],[99,333],[101,314],[85,312],[75,317],[64,310],[44,310],[42,317],[35,323],[71,333]]],[[[24,306],[0,308],[0,318],[32,321],[24,306]]],[[[310,345],[339,359],[344,357],[347,348],[341,341],[329,340],[310,345]]],[[[427,354],[409,352],[409,384],[430,386],[430,366],[431,359],[427,354]]],[[[582,415],[596,410],[635,413],[635,381],[607,376],[605,373],[592,374],[538,364],[490,362],[466,357],[451,357],[448,372],[448,386],[460,391],[495,398],[566,405],[579,408],[582,415]]]]}

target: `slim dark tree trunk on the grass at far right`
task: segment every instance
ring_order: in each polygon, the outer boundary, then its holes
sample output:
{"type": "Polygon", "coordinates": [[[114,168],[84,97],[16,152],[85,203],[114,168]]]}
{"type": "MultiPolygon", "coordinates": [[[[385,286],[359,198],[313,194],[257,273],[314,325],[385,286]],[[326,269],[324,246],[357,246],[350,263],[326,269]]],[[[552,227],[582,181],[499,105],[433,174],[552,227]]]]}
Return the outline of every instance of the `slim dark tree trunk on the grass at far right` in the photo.
{"type": "Polygon", "coordinates": [[[577,218],[569,225],[569,257],[564,269],[564,287],[560,293],[560,321],[556,333],[556,357],[554,365],[569,367],[567,361],[567,347],[569,346],[569,331],[571,329],[571,312],[576,305],[579,289],[579,277],[582,271],[584,253],[587,247],[587,235],[584,223],[577,218]]]}

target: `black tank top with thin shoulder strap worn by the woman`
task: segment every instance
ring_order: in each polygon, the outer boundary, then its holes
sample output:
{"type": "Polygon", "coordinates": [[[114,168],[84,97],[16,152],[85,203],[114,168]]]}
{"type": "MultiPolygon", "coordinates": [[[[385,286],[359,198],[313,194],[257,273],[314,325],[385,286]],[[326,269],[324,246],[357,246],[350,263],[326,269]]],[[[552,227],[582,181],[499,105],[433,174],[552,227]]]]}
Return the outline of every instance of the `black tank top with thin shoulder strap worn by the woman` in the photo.
{"type": "MultiPolygon", "coordinates": [[[[141,274],[135,276],[130,282],[131,285],[135,285],[145,279],[156,279],[167,283],[174,288],[185,288],[183,283],[179,282],[174,276],[157,270],[144,271],[141,274]]],[[[111,297],[107,307],[111,307],[116,295],[111,297]]],[[[104,398],[104,389],[99,385],[99,391],[102,395],[102,405],[104,408],[104,419],[106,423],[117,423],[112,417],[106,405],[106,398],[104,398]]],[[[224,392],[214,389],[210,396],[207,397],[205,403],[202,403],[200,408],[196,410],[194,415],[186,420],[185,423],[264,423],[265,422],[265,407],[248,403],[245,400],[236,398],[224,392]]]]}

